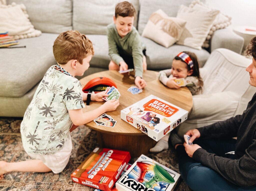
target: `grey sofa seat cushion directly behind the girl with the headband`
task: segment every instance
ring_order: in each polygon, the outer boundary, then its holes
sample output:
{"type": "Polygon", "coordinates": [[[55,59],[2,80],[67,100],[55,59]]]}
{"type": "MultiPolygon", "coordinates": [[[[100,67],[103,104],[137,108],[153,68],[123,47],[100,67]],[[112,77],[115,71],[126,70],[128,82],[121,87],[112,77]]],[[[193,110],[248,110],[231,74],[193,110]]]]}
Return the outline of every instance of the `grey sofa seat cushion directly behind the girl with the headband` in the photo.
{"type": "Polygon", "coordinates": [[[154,41],[141,37],[142,42],[146,45],[147,69],[163,70],[171,68],[174,57],[183,51],[193,52],[197,55],[199,66],[204,66],[210,53],[205,49],[197,50],[183,45],[174,44],[169,48],[165,48],[154,41]]]}

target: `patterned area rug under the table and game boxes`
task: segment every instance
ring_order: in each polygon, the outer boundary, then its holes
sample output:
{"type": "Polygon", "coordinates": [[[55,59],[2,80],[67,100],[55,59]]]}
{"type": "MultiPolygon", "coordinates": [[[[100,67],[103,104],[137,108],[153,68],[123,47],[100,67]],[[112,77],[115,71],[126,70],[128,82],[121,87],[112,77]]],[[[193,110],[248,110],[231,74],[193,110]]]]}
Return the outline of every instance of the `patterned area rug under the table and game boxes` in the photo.
{"type": "MultiPolygon", "coordinates": [[[[20,136],[22,118],[0,117],[0,160],[18,162],[31,158],[23,149],[20,136]]],[[[85,126],[80,126],[71,133],[73,150],[68,165],[59,174],[11,172],[0,180],[0,190],[91,190],[94,188],[72,182],[70,174],[80,163],[97,147],[97,133],[85,126]]],[[[173,148],[158,154],[148,154],[148,157],[179,172],[176,152],[173,148]]],[[[131,159],[133,163],[136,158],[131,159]]],[[[175,188],[176,191],[190,191],[181,179],[175,188]]]]}

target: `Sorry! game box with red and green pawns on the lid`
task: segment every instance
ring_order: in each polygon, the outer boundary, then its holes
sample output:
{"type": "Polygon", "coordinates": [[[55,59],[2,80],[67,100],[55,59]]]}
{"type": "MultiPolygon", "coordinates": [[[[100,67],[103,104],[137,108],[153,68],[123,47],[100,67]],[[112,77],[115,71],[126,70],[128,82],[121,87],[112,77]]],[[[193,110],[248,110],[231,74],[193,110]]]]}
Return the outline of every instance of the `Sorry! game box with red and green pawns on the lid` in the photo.
{"type": "Polygon", "coordinates": [[[116,182],[119,191],[171,191],[180,174],[141,155],[116,182]]]}

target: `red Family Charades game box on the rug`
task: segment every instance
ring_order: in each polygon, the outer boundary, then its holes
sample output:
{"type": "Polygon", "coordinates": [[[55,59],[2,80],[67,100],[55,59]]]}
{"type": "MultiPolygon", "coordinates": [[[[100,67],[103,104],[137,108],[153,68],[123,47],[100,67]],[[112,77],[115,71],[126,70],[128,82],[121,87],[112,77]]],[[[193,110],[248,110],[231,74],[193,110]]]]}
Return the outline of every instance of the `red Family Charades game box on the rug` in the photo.
{"type": "Polygon", "coordinates": [[[110,191],[130,159],[127,151],[95,148],[71,178],[79,184],[110,191]]]}

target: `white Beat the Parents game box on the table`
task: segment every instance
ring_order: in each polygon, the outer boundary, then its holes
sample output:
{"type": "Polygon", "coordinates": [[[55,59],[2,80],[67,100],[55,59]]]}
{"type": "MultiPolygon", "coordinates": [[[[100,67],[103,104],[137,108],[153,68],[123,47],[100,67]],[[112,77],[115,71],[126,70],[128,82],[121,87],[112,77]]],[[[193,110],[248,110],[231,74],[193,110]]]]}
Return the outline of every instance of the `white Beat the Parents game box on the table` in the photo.
{"type": "Polygon", "coordinates": [[[188,111],[150,95],[121,111],[121,119],[155,141],[185,121],[188,111]]]}

